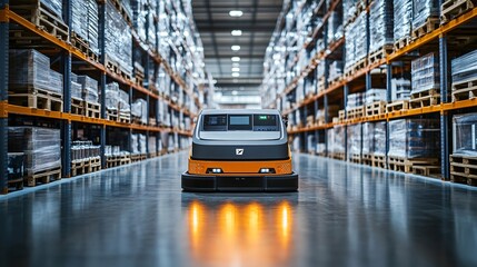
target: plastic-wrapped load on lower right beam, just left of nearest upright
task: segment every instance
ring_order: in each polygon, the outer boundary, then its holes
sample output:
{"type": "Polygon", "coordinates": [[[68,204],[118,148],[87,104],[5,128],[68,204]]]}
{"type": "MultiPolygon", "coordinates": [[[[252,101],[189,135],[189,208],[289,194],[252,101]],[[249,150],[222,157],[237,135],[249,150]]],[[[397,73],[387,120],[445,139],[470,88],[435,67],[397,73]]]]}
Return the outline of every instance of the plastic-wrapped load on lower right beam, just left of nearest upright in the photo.
{"type": "Polygon", "coordinates": [[[435,53],[428,53],[424,57],[413,60],[411,93],[427,91],[430,89],[439,89],[439,57],[435,53]]]}

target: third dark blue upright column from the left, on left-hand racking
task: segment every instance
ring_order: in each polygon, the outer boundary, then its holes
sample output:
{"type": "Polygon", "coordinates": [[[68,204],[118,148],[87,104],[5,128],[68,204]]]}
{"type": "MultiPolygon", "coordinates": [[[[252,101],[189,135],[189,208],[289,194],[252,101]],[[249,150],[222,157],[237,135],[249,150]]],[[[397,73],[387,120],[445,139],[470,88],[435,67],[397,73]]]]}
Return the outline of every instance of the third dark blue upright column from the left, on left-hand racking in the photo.
{"type": "MultiPolygon", "coordinates": [[[[106,62],[106,2],[98,2],[99,10],[99,53],[100,53],[100,62],[105,66],[106,62]]],[[[99,77],[99,86],[101,90],[100,103],[101,103],[101,118],[106,119],[106,73],[101,72],[99,77]]],[[[119,115],[119,112],[118,112],[119,115]]],[[[101,168],[106,168],[106,125],[101,126],[100,129],[100,151],[101,151],[101,168]]]]}

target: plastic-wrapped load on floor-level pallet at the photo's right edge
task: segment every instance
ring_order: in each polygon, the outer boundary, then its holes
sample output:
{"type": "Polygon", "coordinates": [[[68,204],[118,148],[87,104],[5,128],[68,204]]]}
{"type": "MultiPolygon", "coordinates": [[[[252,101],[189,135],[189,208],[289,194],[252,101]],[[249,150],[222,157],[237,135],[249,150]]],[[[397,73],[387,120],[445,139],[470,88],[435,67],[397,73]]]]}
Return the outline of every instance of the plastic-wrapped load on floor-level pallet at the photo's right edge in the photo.
{"type": "Polygon", "coordinates": [[[477,156],[477,113],[454,116],[453,154],[477,156]]]}

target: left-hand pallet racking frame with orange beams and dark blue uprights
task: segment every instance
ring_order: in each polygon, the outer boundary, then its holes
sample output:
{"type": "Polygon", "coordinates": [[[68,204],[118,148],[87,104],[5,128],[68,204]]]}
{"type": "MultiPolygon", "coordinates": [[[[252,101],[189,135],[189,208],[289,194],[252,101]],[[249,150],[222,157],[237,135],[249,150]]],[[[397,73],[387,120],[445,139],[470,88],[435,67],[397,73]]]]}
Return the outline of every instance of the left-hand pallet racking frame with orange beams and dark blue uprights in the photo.
{"type": "MultiPolygon", "coordinates": [[[[106,19],[106,4],[111,0],[100,0],[97,1],[99,6],[99,31],[105,32],[105,19],[106,19]]],[[[129,136],[129,144],[132,132],[142,132],[147,137],[152,136],[156,138],[156,150],[150,151],[149,146],[147,147],[148,157],[161,155],[159,151],[159,142],[161,141],[161,134],[171,135],[175,139],[177,148],[180,149],[182,137],[190,137],[190,125],[186,127],[179,127],[173,125],[173,121],[182,122],[183,119],[190,118],[189,121],[196,117],[198,110],[202,108],[201,105],[201,95],[203,93],[202,79],[192,77],[190,70],[188,71],[178,71],[170,65],[169,60],[176,60],[177,55],[171,53],[171,58],[167,59],[162,57],[153,46],[148,46],[142,40],[139,40],[136,29],[132,27],[130,18],[128,19],[121,3],[119,1],[113,1],[115,7],[118,8],[118,11],[125,16],[126,21],[128,22],[133,39],[133,49],[139,50],[141,58],[147,62],[146,68],[148,68],[149,62],[156,68],[162,68],[165,72],[171,79],[171,88],[167,88],[169,92],[178,92],[179,99],[171,99],[169,96],[159,93],[157,91],[149,90],[145,82],[137,82],[132,80],[132,77],[125,77],[119,73],[115,73],[111,69],[107,68],[106,62],[106,51],[105,51],[105,36],[100,34],[99,37],[99,55],[91,55],[87,51],[83,51],[81,47],[73,46],[64,38],[58,38],[57,36],[51,34],[48,31],[41,30],[31,21],[24,19],[20,14],[13,12],[9,7],[9,0],[0,0],[0,145],[2,150],[0,152],[0,192],[8,192],[8,127],[9,118],[11,116],[26,117],[33,120],[37,119],[48,119],[61,125],[61,138],[62,138],[62,177],[71,176],[71,160],[70,160],[70,147],[72,131],[78,125],[87,127],[99,128],[99,145],[101,148],[101,167],[107,167],[107,160],[105,155],[105,147],[107,145],[107,132],[108,129],[122,129],[129,136]],[[63,107],[62,110],[50,111],[43,109],[36,109],[31,107],[16,106],[8,102],[8,87],[9,87],[9,43],[10,34],[9,28],[10,24],[17,24],[22,27],[22,29],[28,30],[30,33],[41,39],[42,43],[46,43],[48,47],[48,52],[54,53],[59,59],[60,70],[63,75],[63,107]],[[147,102],[147,110],[149,115],[152,115],[155,121],[150,123],[126,123],[107,119],[107,111],[105,106],[105,97],[100,97],[100,117],[86,117],[81,115],[76,115],[71,112],[71,83],[70,76],[73,69],[78,69],[81,66],[83,72],[92,73],[99,81],[100,96],[105,96],[105,88],[108,81],[115,81],[120,85],[129,95],[129,101],[131,102],[135,98],[143,98],[147,102]],[[188,98],[188,99],[187,99],[188,98]],[[186,101],[188,100],[188,101],[186,101]],[[166,126],[163,121],[159,121],[159,102],[162,101],[167,105],[168,113],[171,116],[168,118],[170,121],[167,121],[166,126]],[[188,102],[189,106],[185,103],[188,102]],[[173,126],[173,127],[172,127],[173,126]]],[[[62,1],[63,4],[63,14],[62,19],[66,24],[69,27],[71,36],[71,9],[72,1],[62,1]]],[[[159,9],[159,8],[157,8],[159,9]]],[[[175,4],[173,9],[185,10],[185,6],[175,4]]],[[[157,13],[159,10],[155,10],[157,13]]],[[[158,23],[158,20],[155,20],[155,23],[158,23]]],[[[156,32],[156,34],[158,34],[156,32]]],[[[157,36],[158,37],[158,36],[157,36]]],[[[156,38],[158,39],[158,38],[156,38]]],[[[186,42],[185,42],[186,43],[186,42]]],[[[186,46],[186,44],[183,44],[186,46]]],[[[172,50],[177,48],[171,48],[172,50]]],[[[190,48],[187,48],[190,49],[190,48]]],[[[202,68],[202,66],[200,66],[202,68]]],[[[145,71],[143,81],[148,79],[148,71],[145,71]]],[[[203,79],[205,80],[205,79],[203,79]]],[[[149,117],[148,117],[149,118],[149,117]]],[[[146,139],[148,142],[148,138],[146,139]]],[[[142,155],[139,159],[143,159],[142,155]]]]}

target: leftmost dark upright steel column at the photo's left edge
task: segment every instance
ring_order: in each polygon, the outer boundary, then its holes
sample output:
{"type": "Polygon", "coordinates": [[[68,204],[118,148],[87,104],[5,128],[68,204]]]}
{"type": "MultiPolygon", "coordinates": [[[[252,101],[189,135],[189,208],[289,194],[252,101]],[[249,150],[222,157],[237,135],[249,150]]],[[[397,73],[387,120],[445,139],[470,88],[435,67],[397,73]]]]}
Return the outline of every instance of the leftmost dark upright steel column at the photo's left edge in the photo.
{"type": "MultiPolygon", "coordinates": [[[[0,10],[4,9],[8,0],[0,0],[0,10]]],[[[9,71],[9,22],[0,21],[0,101],[8,101],[9,71]]],[[[1,105],[1,103],[0,103],[1,105]]],[[[8,192],[8,113],[0,108],[0,194],[8,192]]]]}

